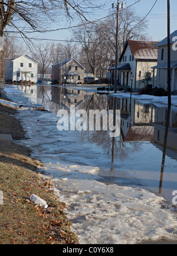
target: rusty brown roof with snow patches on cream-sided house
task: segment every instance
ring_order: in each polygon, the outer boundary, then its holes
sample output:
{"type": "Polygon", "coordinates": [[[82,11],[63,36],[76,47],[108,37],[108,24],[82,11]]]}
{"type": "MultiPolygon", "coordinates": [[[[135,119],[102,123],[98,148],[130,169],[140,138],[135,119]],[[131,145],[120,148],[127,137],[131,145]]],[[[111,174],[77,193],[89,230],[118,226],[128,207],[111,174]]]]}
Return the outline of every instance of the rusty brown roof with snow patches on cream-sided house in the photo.
{"type": "Polygon", "coordinates": [[[127,40],[124,46],[122,55],[119,61],[122,60],[127,46],[130,47],[132,55],[136,60],[157,60],[158,59],[158,48],[156,48],[157,41],[134,41],[127,40]]]}

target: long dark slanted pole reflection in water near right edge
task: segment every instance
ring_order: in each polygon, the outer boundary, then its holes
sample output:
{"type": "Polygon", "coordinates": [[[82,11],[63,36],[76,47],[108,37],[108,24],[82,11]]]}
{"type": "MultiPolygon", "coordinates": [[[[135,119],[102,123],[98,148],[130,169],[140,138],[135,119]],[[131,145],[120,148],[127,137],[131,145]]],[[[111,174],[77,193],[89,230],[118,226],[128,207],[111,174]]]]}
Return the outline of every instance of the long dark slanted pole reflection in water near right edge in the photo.
{"type": "Polygon", "coordinates": [[[162,192],[163,171],[164,171],[165,155],[166,155],[166,142],[168,137],[168,127],[169,127],[170,116],[171,116],[171,105],[168,106],[168,110],[166,114],[166,126],[165,126],[164,142],[163,142],[163,155],[162,155],[162,165],[161,165],[161,172],[160,172],[159,193],[162,192]]]}

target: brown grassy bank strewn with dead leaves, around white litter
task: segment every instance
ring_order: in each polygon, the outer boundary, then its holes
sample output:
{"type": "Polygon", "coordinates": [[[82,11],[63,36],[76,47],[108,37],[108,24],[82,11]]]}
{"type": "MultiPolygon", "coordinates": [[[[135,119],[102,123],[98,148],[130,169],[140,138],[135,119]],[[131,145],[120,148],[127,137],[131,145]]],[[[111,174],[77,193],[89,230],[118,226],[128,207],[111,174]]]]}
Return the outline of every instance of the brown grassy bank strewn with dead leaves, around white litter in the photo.
{"type": "MultiPolygon", "coordinates": [[[[0,105],[0,133],[14,139],[25,135],[15,116],[17,110],[0,105]]],[[[0,244],[77,244],[70,231],[65,203],[58,201],[48,180],[37,172],[39,162],[30,157],[31,150],[14,142],[0,140],[0,244]],[[47,209],[30,201],[37,194],[47,201],[47,209]]]]}

